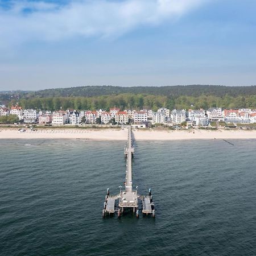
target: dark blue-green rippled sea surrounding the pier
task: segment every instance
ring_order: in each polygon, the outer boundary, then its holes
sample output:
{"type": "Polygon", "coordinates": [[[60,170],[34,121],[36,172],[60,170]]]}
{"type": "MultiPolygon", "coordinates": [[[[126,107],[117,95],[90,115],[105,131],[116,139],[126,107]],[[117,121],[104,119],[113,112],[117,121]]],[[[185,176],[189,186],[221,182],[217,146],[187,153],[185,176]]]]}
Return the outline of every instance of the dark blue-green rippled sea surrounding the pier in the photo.
{"type": "Polygon", "coordinates": [[[102,219],[125,142],[1,140],[1,255],[256,255],[256,141],[136,142],[156,218],[102,219]]]}

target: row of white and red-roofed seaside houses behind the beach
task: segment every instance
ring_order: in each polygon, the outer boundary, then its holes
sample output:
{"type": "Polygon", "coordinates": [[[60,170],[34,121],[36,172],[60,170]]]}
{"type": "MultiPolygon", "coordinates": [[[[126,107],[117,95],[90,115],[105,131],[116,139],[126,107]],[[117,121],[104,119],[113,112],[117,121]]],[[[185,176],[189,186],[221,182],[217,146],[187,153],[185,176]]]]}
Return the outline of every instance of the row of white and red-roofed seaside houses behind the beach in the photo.
{"type": "Polygon", "coordinates": [[[1,115],[15,114],[19,120],[24,123],[36,123],[41,125],[79,125],[80,123],[169,123],[180,124],[183,122],[191,125],[208,126],[210,122],[226,122],[226,123],[256,123],[256,110],[252,109],[221,109],[209,108],[208,110],[170,110],[160,108],[157,112],[152,110],[124,110],[112,108],[109,111],[105,110],[59,110],[51,111],[36,111],[36,109],[22,109],[20,106],[11,106],[0,108],[1,115]]]}

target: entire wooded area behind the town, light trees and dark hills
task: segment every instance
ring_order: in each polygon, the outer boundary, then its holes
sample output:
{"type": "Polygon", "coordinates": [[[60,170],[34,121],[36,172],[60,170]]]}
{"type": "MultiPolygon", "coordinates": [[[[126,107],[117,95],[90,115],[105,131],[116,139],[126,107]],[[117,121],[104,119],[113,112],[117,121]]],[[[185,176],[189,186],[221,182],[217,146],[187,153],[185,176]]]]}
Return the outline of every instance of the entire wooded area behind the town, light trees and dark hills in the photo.
{"type": "Polygon", "coordinates": [[[82,86],[2,92],[1,102],[42,110],[256,108],[256,86],[82,86]]]}

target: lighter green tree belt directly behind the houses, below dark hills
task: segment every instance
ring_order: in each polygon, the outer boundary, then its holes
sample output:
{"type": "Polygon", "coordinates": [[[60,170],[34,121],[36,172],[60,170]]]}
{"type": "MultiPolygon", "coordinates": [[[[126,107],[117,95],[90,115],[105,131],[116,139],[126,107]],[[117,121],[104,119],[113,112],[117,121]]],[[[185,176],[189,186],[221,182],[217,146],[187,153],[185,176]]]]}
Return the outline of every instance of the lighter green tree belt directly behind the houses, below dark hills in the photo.
{"type": "Polygon", "coordinates": [[[9,106],[18,102],[23,109],[76,109],[95,110],[110,108],[124,109],[208,109],[219,108],[256,108],[256,95],[233,97],[228,94],[219,97],[202,94],[200,96],[160,96],[153,94],[123,93],[118,95],[93,97],[34,97],[11,100],[9,106]]]}

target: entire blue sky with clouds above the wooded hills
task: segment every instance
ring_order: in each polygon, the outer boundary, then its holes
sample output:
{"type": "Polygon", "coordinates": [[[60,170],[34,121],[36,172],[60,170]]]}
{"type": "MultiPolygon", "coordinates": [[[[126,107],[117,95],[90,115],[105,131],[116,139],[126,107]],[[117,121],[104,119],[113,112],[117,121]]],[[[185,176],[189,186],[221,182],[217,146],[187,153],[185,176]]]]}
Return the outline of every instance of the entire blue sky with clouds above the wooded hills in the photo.
{"type": "Polygon", "coordinates": [[[256,85],[255,0],[0,0],[0,90],[256,85]]]}

